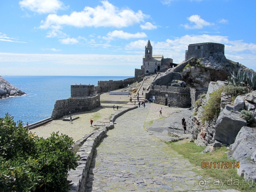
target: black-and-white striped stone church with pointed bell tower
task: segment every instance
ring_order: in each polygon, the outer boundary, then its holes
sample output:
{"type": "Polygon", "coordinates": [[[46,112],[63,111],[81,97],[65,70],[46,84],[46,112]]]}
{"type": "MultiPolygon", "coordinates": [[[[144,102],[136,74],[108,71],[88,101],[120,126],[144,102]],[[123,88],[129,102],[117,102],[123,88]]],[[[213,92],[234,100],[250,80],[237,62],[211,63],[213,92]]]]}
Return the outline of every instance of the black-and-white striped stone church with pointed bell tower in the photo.
{"type": "Polygon", "coordinates": [[[150,75],[156,72],[164,72],[166,69],[169,69],[173,65],[176,66],[177,64],[173,64],[173,60],[171,58],[164,58],[163,55],[153,55],[153,47],[148,40],[148,43],[145,46],[143,64],[141,66],[144,75],[150,75]]]}

